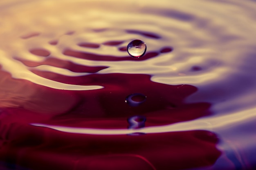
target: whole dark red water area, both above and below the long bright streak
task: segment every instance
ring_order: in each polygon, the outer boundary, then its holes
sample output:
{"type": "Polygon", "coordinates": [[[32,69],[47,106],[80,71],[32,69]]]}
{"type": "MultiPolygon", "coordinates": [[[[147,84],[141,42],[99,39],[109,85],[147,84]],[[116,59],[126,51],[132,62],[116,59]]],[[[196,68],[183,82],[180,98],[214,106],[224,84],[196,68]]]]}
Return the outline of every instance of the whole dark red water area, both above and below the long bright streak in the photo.
{"type": "Polygon", "coordinates": [[[144,74],[92,74],[80,81],[105,88],[69,91],[13,79],[6,72],[0,77],[0,162],[7,167],[180,170],[211,166],[221,154],[218,137],[209,131],[86,135],[30,125],[126,129],[127,118],[135,115],[146,117],[146,127],[191,120],[209,114],[210,107],[184,103],[194,86],[155,83],[144,74]],[[144,94],[146,101],[129,106],[125,100],[132,93],[144,94]]]}

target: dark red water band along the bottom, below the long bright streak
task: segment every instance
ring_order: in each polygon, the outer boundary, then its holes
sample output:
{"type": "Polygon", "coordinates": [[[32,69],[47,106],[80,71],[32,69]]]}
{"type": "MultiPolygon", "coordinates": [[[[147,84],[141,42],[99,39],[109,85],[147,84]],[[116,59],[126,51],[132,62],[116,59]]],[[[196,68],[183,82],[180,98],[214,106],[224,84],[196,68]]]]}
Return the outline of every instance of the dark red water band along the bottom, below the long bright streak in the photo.
{"type": "Polygon", "coordinates": [[[13,169],[181,170],[211,166],[221,155],[218,137],[209,131],[85,135],[22,123],[0,125],[0,161],[13,169]]]}

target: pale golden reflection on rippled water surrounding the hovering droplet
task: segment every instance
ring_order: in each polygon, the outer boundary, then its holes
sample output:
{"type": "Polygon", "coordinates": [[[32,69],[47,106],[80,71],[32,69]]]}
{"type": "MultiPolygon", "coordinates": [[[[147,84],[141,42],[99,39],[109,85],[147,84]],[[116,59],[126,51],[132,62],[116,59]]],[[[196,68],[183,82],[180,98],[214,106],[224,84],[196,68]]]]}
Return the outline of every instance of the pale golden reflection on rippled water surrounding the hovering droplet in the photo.
{"type": "MultiPolygon", "coordinates": [[[[17,63],[14,57],[29,61],[43,61],[44,58],[29,54],[27,51],[31,48],[45,48],[51,52],[51,57],[57,59],[81,65],[108,67],[101,70],[99,74],[150,74],[153,76],[152,81],[169,85],[184,83],[204,85],[216,80],[222,81],[230,75],[231,70],[238,68],[238,65],[243,63],[245,57],[241,56],[245,56],[248,51],[253,50],[252,44],[256,44],[254,38],[256,26],[254,24],[247,26],[255,21],[255,15],[253,15],[256,8],[255,3],[249,0],[246,2],[225,0],[224,2],[221,3],[223,8],[219,8],[220,2],[205,3],[203,0],[193,2],[180,0],[172,2],[170,7],[166,6],[169,4],[168,0],[157,2],[129,0],[124,1],[127,5],[120,7],[115,0],[110,0],[108,4],[111,5],[108,8],[104,5],[99,6],[90,0],[88,2],[77,0],[72,3],[69,0],[38,0],[24,3],[22,6],[8,6],[0,11],[0,15],[5,16],[1,20],[0,29],[0,38],[4,39],[1,50],[5,53],[1,57],[0,64],[3,66],[3,70],[11,73],[14,78],[27,79],[51,88],[70,90],[102,87],[81,87],[47,81],[34,73],[31,74],[28,71],[30,68],[22,67],[22,63],[17,63]],[[132,3],[138,5],[133,5],[132,9],[127,8],[132,3]],[[117,6],[112,6],[112,4],[117,6]],[[141,9],[142,6],[144,8],[141,9]],[[85,10],[85,7],[88,8],[85,10]],[[156,14],[152,11],[148,12],[151,8],[155,9],[156,14]],[[45,13],[45,9],[48,10],[47,13],[45,13]],[[74,9],[79,11],[77,12],[79,15],[74,13],[74,9]],[[129,10],[136,11],[136,13],[129,10]],[[17,11],[25,12],[17,13],[17,11]],[[65,12],[61,13],[60,11],[65,12]],[[178,14],[168,13],[170,11],[177,11],[178,14]],[[236,12],[230,13],[230,11],[236,12]],[[38,19],[38,15],[40,15],[40,19],[38,19]],[[191,15],[193,19],[186,20],[183,15],[191,15]],[[101,20],[95,20],[98,17],[101,20]],[[31,24],[35,22],[38,24],[31,24]],[[95,33],[91,31],[93,28],[110,28],[110,30],[95,33]],[[152,39],[138,34],[128,34],[126,29],[156,33],[162,38],[152,39]],[[74,34],[65,35],[70,30],[74,30],[74,34]],[[22,35],[32,32],[40,34],[29,39],[20,39],[22,35]],[[58,40],[56,46],[48,43],[54,39],[58,40]],[[128,44],[131,39],[143,39],[147,43],[148,52],[157,51],[166,45],[173,46],[174,51],[171,54],[160,54],[156,58],[132,62],[132,64],[129,61],[89,61],[62,54],[62,51],[69,47],[81,52],[123,57],[124,52],[120,52],[117,47],[101,46],[99,49],[90,49],[79,47],[76,44],[80,42],[103,43],[110,40],[125,40],[124,44],[128,44]],[[9,62],[3,61],[3,58],[8,58],[9,62]],[[216,65],[212,64],[213,60],[216,61],[216,65]],[[200,65],[207,69],[191,74],[189,69],[193,65],[200,65]],[[26,76],[15,73],[17,66],[20,72],[26,73],[26,76]]],[[[2,2],[2,6],[4,4],[6,2],[2,2]]],[[[59,72],[57,68],[52,71],[59,72]]],[[[74,72],[59,73],[77,76],[77,73],[74,72]]]]}

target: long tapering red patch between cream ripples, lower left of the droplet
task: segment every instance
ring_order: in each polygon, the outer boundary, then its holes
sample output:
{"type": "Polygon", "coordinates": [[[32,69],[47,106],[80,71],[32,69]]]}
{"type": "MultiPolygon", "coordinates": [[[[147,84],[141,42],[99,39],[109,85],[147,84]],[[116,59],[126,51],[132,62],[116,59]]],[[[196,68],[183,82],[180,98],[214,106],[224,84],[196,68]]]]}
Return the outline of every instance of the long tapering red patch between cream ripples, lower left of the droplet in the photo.
{"type": "Polygon", "coordinates": [[[18,61],[21,61],[24,65],[27,65],[28,67],[36,67],[38,65],[51,65],[58,68],[65,68],[67,70],[70,70],[72,72],[88,72],[88,73],[95,73],[100,70],[103,70],[105,68],[108,68],[106,66],[85,66],[85,65],[78,65],[76,63],[72,63],[71,61],[65,61],[61,59],[56,59],[52,57],[47,57],[42,62],[35,62],[35,61],[29,61],[29,60],[23,60],[20,58],[16,58],[18,61]]]}

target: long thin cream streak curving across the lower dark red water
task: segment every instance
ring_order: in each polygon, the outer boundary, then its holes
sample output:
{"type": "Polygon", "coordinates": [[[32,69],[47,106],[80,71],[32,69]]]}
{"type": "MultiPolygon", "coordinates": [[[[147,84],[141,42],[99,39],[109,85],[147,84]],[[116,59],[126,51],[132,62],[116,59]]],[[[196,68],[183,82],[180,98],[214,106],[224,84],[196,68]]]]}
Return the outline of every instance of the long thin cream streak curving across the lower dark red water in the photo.
{"type": "Polygon", "coordinates": [[[222,131],[229,126],[236,126],[239,123],[245,123],[252,120],[256,116],[256,108],[248,109],[223,116],[210,116],[199,118],[196,120],[178,122],[175,124],[164,126],[152,126],[141,129],[91,129],[91,128],[76,128],[66,126],[54,126],[49,124],[31,124],[33,126],[42,126],[67,133],[81,133],[91,135],[125,135],[130,133],[167,133],[177,131],[193,131],[193,130],[208,130],[222,131]]]}

